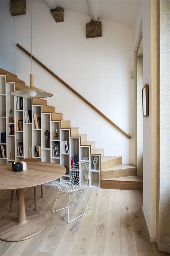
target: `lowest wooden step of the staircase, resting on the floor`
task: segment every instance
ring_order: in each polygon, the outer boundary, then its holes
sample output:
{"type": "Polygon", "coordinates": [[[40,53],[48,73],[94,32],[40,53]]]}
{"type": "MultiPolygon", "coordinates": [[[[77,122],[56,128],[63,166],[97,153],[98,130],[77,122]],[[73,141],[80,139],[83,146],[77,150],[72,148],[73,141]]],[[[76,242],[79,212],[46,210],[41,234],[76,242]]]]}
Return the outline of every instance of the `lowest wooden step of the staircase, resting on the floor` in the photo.
{"type": "Polygon", "coordinates": [[[102,189],[142,190],[142,176],[128,176],[101,180],[102,189]]]}

